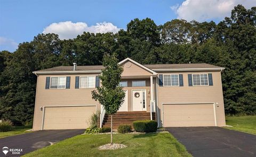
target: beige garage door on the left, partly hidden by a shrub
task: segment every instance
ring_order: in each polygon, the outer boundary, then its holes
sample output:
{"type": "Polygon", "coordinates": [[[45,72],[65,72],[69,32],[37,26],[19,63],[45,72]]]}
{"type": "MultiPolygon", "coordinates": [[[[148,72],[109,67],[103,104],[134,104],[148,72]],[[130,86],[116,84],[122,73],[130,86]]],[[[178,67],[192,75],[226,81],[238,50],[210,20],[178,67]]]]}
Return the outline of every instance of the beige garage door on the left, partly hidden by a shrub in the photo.
{"type": "Polygon", "coordinates": [[[90,106],[45,106],[43,129],[84,129],[89,127],[89,119],[96,111],[90,106]]]}

